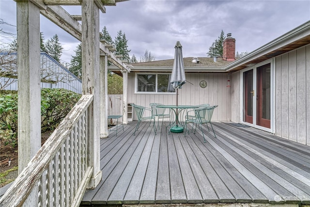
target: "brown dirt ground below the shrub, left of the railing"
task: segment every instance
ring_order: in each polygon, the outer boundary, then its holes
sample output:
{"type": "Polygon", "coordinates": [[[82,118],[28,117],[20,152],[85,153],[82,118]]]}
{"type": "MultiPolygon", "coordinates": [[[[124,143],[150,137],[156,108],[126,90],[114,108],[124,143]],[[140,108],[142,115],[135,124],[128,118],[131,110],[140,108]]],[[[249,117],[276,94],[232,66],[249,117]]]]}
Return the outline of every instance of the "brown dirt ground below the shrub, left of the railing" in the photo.
{"type": "MultiPolygon", "coordinates": [[[[52,131],[42,133],[41,143],[44,144],[52,131]]],[[[14,181],[17,177],[18,146],[12,147],[0,143],[0,188],[14,181]],[[9,165],[9,160],[11,160],[9,165]],[[7,172],[7,173],[5,173],[7,172]]]]}

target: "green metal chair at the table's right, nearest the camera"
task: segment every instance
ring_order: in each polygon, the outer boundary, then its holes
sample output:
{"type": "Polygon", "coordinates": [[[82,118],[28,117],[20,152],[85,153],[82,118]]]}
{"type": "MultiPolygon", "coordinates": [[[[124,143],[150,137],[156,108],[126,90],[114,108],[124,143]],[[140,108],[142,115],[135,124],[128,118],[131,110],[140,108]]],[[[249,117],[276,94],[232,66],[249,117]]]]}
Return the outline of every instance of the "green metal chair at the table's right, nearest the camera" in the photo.
{"type": "MultiPolygon", "coordinates": [[[[206,142],[206,140],[204,138],[204,133],[202,130],[202,124],[206,124],[208,127],[208,131],[210,131],[209,126],[208,126],[208,123],[210,123],[212,131],[214,133],[214,137],[216,138],[217,135],[215,134],[215,131],[214,131],[214,129],[212,127],[212,123],[211,123],[213,111],[215,108],[217,108],[217,106],[202,107],[202,108],[195,109],[195,117],[186,115],[185,128],[187,127],[188,123],[196,124],[195,131],[194,131],[194,134],[195,134],[197,124],[199,124],[200,130],[202,131],[203,142],[206,142]]],[[[186,135],[186,131],[188,131],[187,128],[184,132],[184,136],[186,135]]],[[[189,132],[188,132],[188,134],[189,134],[189,132]]]]}

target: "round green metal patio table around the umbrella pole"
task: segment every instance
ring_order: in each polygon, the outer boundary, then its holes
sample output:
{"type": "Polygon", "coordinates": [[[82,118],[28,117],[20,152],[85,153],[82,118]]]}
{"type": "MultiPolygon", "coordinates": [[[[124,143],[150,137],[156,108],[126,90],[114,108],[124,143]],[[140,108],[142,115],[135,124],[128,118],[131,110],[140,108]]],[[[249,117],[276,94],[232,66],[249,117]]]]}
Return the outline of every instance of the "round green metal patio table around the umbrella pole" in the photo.
{"type": "Polygon", "coordinates": [[[171,124],[172,127],[169,129],[169,132],[171,131],[173,133],[182,133],[184,130],[184,125],[179,120],[180,114],[182,114],[182,112],[184,112],[184,110],[186,109],[198,108],[198,106],[186,106],[186,105],[178,105],[178,106],[177,105],[158,105],[156,107],[170,109],[174,112],[175,120],[172,122],[171,124]]]}

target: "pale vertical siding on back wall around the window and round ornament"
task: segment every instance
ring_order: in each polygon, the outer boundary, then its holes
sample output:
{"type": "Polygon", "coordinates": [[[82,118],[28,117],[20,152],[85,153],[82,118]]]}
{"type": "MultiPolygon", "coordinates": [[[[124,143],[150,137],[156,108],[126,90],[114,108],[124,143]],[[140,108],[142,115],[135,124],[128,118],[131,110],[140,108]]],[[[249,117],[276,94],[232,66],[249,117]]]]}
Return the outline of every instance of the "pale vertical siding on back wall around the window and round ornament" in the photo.
{"type": "MultiPolygon", "coordinates": [[[[231,76],[231,75],[230,75],[231,76]]],[[[218,105],[214,110],[213,121],[228,121],[232,116],[231,87],[227,87],[228,74],[186,73],[186,84],[179,89],[178,105],[218,105]],[[207,87],[201,88],[201,80],[207,87]],[[193,83],[190,84],[189,82],[193,83]]],[[[149,107],[150,103],[165,105],[176,104],[176,94],[140,94],[135,93],[135,74],[128,73],[128,103],[149,107]]],[[[136,114],[134,119],[136,120],[136,114]]]]}

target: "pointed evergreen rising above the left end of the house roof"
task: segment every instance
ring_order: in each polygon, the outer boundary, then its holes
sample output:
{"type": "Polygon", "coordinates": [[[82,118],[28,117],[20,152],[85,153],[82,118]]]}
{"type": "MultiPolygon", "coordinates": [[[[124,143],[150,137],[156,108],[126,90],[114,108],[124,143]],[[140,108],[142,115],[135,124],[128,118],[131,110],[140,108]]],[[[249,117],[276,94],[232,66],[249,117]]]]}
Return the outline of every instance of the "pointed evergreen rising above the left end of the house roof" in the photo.
{"type": "Polygon", "coordinates": [[[127,61],[129,63],[130,61],[129,52],[131,50],[128,50],[127,42],[128,40],[126,39],[125,33],[123,33],[122,30],[117,32],[117,37],[115,37],[115,40],[114,40],[114,44],[116,48],[115,54],[123,55],[123,57],[121,57],[120,59],[127,61]]]}

